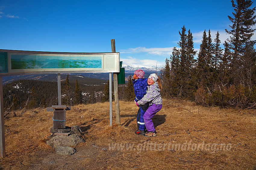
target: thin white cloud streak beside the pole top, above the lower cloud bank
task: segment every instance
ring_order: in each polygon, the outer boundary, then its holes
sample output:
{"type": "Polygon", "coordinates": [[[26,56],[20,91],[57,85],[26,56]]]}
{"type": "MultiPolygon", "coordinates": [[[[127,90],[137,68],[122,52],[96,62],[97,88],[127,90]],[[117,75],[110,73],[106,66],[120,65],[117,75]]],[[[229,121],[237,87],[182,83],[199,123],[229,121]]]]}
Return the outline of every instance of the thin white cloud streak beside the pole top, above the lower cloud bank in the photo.
{"type": "Polygon", "coordinates": [[[153,55],[170,55],[173,51],[173,47],[167,48],[145,48],[145,47],[137,47],[137,48],[129,48],[129,49],[122,49],[120,53],[140,53],[146,52],[148,54],[153,55]]]}

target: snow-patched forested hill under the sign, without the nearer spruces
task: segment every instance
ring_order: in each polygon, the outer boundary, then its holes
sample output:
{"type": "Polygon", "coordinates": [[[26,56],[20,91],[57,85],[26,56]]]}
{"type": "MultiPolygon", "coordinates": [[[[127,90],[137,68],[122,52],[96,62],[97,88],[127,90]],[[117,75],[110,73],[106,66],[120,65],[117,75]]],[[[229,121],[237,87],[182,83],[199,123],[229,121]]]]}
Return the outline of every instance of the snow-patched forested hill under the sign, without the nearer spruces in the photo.
{"type": "MultiPolygon", "coordinates": [[[[67,75],[65,75],[67,76],[67,75]]],[[[99,97],[101,100],[102,91],[107,84],[106,80],[94,79],[83,76],[70,76],[69,94],[74,94],[76,80],[79,80],[79,90],[84,99],[84,103],[90,102],[90,98],[99,97]],[[93,94],[93,95],[91,95],[93,94]]],[[[65,97],[63,88],[65,82],[61,81],[62,98],[65,97]]],[[[58,104],[57,81],[39,81],[39,80],[16,80],[3,86],[4,105],[6,109],[18,109],[27,105],[29,108],[38,106],[50,107],[58,104]]],[[[72,103],[71,103],[72,104],[72,103]]],[[[68,103],[70,105],[70,103],[68,103]]]]}

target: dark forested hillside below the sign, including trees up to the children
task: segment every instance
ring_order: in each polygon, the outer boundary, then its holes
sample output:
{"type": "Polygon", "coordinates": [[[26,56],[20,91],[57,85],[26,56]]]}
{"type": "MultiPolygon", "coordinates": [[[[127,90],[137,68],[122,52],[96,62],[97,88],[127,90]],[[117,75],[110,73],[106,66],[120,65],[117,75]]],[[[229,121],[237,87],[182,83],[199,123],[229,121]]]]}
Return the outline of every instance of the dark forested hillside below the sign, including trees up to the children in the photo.
{"type": "MultiPolygon", "coordinates": [[[[109,81],[81,75],[61,75],[61,104],[73,106],[109,101],[109,81]]],[[[112,98],[114,99],[112,81],[112,98]]],[[[131,76],[128,83],[119,85],[119,99],[133,100],[131,76]]],[[[3,86],[6,110],[58,105],[57,81],[16,80],[3,86]]]]}

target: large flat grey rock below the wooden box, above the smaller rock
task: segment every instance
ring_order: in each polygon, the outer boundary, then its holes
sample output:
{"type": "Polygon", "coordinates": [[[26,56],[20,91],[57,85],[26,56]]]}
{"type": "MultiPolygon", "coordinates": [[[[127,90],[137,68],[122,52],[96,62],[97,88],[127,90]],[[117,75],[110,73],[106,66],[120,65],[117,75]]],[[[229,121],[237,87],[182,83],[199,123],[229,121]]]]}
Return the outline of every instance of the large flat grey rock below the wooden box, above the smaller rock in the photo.
{"type": "Polygon", "coordinates": [[[46,144],[50,145],[52,148],[55,148],[56,146],[76,146],[81,142],[84,142],[84,140],[80,135],[72,134],[69,136],[54,136],[50,140],[46,141],[46,144]]]}

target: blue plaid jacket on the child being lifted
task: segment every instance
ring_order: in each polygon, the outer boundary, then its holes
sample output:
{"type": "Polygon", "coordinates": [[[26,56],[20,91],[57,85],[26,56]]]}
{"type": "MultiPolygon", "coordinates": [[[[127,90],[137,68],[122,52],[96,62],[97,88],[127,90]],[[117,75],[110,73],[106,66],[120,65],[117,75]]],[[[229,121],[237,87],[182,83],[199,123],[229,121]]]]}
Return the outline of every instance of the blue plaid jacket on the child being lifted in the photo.
{"type": "Polygon", "coordinates": [[[147,93],[147,87],[148,87],[148,79],[142,78],[133,80],[133,87],[134,87],[134,93],[135,93],[135,101],[139,101],[142,99],[142,97],[147,93]]]}

